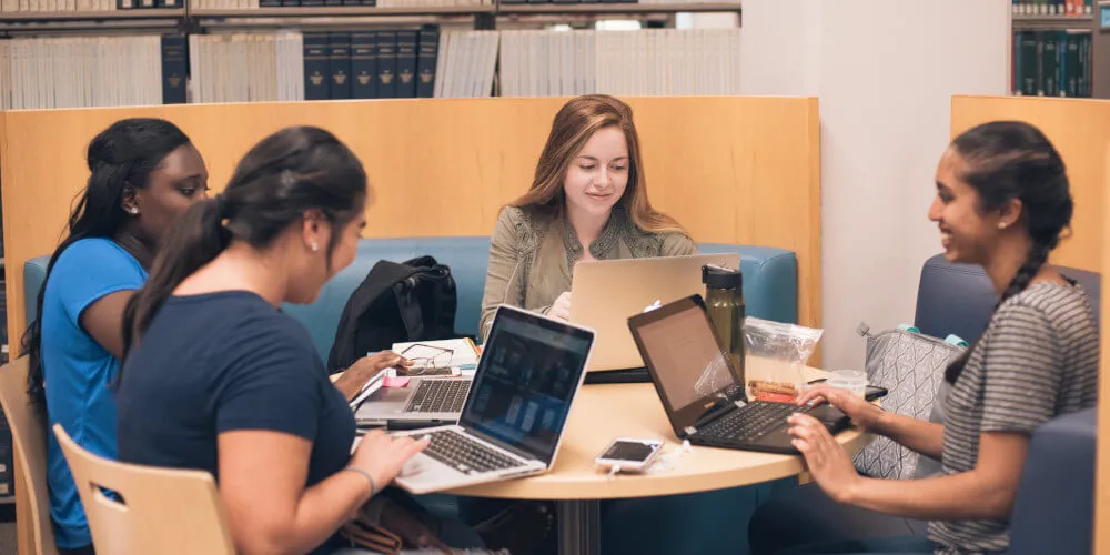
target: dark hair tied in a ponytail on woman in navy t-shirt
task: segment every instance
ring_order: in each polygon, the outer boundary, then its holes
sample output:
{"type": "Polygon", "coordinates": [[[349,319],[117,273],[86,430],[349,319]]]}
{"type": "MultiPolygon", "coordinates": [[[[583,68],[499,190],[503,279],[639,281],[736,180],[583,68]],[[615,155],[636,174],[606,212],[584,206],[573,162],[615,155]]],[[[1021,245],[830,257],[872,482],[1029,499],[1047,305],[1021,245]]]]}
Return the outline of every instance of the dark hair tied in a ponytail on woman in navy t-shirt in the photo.
{"type": "Polygon", "coordinates": [[[232,241],[265,249],[306,211],[319,210],[333,226],[330,263],[339,229],[357,215],[365,198],[362,163],[330,132],[293,127],[266,137],[239,162],[223,193],[191,206],[163,238],[147,285],[124,313],[124,354],[173,290],[232,241]]]}

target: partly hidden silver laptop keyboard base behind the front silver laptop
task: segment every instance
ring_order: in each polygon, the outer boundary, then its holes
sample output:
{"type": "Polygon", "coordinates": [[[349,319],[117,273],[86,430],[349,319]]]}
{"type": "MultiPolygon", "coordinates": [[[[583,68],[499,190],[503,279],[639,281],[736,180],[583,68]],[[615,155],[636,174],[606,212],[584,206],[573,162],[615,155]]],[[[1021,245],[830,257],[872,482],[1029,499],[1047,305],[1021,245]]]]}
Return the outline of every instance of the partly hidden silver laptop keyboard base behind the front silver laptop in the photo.
{"type": "Polygon", "coordinates": [[[471,390],[470,377],[410,377],[404,387],[380,387],[354,412],[360,426],[393,430],[454,424],[471,390]]]}

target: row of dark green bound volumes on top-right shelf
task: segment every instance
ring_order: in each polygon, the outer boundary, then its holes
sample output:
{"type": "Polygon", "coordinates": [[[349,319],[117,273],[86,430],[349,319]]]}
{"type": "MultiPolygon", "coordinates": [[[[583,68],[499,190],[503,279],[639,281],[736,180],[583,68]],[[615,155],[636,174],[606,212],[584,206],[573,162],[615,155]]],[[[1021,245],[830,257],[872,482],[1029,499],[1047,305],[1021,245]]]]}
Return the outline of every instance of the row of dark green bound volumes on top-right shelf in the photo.
{"type": "Polygon", "coordinates": [[[1012,89],[1020,97],[1091,97],[1091,31],[1016,31],[1012,89]]]}

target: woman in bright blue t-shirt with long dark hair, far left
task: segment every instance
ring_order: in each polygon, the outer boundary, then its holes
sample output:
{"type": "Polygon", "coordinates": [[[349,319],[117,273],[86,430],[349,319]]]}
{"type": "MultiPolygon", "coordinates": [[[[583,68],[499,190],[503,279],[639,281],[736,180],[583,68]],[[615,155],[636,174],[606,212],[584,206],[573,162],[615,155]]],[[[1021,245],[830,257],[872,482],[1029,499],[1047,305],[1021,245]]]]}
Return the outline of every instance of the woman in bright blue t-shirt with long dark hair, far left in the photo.
{"type": "MultiPolygon", "coordinates": [[[[200,153],[173,123],[128,119],[89,144],[89,183],[70,214],[69,236],[47,266],[38,312],[23,337],[29,393],[84,448],[115,456],[109,385],[123,352],[123,307],[171,221],[205,196],[200,153]]],[[[54,539],[63,553],[92,553],[69,466],[48,434],[47,480],[54,539]]]]}

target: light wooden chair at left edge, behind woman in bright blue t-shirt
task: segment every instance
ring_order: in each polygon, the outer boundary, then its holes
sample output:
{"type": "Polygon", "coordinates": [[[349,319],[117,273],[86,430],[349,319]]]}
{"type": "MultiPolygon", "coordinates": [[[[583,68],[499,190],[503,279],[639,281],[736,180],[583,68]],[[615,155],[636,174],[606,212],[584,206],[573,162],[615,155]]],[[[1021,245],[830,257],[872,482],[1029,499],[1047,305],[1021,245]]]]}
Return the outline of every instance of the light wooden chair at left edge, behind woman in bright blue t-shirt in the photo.
{"type": "MultiPolygon", "coordinates": [[[[58,555],[54,545],[53,525],[50,521],[50,492],[47,490],[47,426],[38,410],[31,406],[27,396],[27,373],[30,369],[27,356],[17,359],[0,367],[0,405],[11,428],[12,460],[20,472],[19,500],[28,508],[20,518],[30,519],[30,537],[20,542],[30,543],[27,549],[20,545],[20,553],[34,555],[58,555]]],[[[26,529],[24,523],[19,523],[26,529]]]]}

